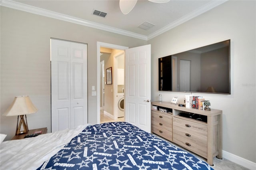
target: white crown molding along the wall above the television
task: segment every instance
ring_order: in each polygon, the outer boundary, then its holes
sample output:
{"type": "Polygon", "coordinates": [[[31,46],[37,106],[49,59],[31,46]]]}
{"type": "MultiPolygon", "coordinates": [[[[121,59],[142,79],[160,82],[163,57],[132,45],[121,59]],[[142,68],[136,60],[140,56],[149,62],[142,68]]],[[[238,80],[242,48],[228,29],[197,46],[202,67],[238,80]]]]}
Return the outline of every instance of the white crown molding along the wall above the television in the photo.
{"type": "Polygon", "coordinates": [[[183,24],[184,22],[187,22],[188,20],[191,20],[192,18],[195,18],[196,16],[199,16],[201,14],[203,14],[204,12],[207,12],[208,10],[211,10],[212,8],[220,5],[220,4],[223,4],[224,2],[226,2],[228,0],[214,0],[208,4],[206,4],[205,6],[201,7],[200,9],[198,10],[195,10],[194,12],[172,22],[171,24],[161,28],[160,30],[154,32],[153,34],[150,34],[148,36],[148,40],[156,37],[156,36],[159,36],[160,34],[163,34],[164,32],[167,32],[168,30],[171,30],[172,28],[180,25],[180,24],[183,24]]]}

